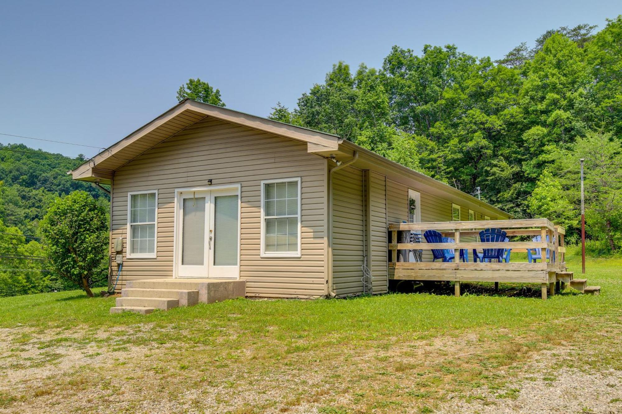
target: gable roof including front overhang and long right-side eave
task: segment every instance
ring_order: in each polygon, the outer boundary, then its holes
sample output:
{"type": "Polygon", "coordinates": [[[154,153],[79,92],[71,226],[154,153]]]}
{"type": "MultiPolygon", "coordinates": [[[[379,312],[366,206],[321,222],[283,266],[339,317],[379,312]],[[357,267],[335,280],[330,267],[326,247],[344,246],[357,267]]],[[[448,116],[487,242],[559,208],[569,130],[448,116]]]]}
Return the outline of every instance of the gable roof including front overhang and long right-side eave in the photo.
{"type": "Polygon", "coordinates": [[[424,186],[426,191],[434,195],[448,196],[450,200],[459,201],[465,207],[472,209],[483,208],[511,217],[511,214],[485,203],[485,201],[478,200],[478,198],[468,193],[404,167],[404,165],[386,159],[371,150],[343,140],[336,135],[193,101],[192,99],[184,99],[164,114],[156,117],[153,121],[148,122],[68,173],[72,174],[74,180],[103,184],[110,183],[114,170],[123,167],[123,165],[155,145],[160,144],[160,142],[205,117],[212,117],[220,121],[306,143],[307,152],[322,155],[323,157],[347,160],[352,157],[354,152],[358,152],[360,158],[353,164],[354,167],[361,169],[373,168],[383,173],[392,181],[400,182],[404,185],[411,185],[411,183],[416,182],[417,186],[424,186]]]}

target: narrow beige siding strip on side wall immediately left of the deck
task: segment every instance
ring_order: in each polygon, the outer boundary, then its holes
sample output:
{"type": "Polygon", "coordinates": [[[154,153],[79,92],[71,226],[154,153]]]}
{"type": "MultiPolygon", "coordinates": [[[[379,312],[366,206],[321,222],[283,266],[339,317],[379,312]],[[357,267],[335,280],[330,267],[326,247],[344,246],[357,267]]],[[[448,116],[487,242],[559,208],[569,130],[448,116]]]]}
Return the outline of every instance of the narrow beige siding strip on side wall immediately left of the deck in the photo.
{"type": "Polygon", "coordinates": [[[388,290],[386,178],[373,171],[369,172],[369,203],[371,266],[368,263],[368,268],[373,276],[374,293],[385,293],[388,290]]]}

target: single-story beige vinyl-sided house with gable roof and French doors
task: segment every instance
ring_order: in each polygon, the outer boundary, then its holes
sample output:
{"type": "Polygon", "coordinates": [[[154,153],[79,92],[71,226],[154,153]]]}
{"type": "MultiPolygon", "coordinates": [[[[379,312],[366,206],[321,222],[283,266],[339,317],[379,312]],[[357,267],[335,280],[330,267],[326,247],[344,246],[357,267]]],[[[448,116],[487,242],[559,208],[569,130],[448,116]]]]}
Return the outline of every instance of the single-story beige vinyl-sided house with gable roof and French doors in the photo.
{"type": "Polygon", "coordinates": [[[117,290],[200,278],[345,297],[366,264],[384,293],[389,224],[510,217],[338,136],[189,99],[70,173],[111,186],[117,290]]]}

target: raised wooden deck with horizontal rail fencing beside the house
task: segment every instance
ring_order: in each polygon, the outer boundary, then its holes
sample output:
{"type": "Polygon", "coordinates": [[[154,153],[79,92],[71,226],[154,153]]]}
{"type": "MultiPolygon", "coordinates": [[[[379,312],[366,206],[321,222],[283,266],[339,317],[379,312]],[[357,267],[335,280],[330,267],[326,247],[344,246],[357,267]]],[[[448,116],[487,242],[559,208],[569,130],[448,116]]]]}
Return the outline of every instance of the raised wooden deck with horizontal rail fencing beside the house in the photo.
{"type": "MultiPolygon", "coordinates": [[[[397,280],[440,280],[452,281],[456,294],[460,295],[460,282],[519,282],[541,283],[542,298],[555,292],[555,283],[562,280],[558,273],[565,272],[565,229],[555,226],[548,219],[486,220],[486,221],[448,221],[439,223],[404,223],[389,225],[389,278],[397,280]],[[509,242],[480,242],[478,234],[486,228],[501,228],[506,231],[509,242]],[[426,230],[437,230],[443,236],[452,237],[451,243],[399,243],[399,232],[415,231],[423,234],[426,230]],[[532,241],[541,236],[540,242],[532,241]],[[549,236],[549,242],[547,242],[549,236]],[[526,252],[527,249],[549,249],[549,259],[537,263],[481,263],[473,262],[473,249],[512,249],[512,252],[526,252]],[[454,249],[455,261],[423,262],[398,261],[398,251],[431,249],[454,249]],[[467,249],[470,262],[459,261],[459,249],[467,249]]],[[[407,258],[411,255],[406,254],[407,258]]],[[[424,259],[425,260],[425,259],[424,259]]]]}

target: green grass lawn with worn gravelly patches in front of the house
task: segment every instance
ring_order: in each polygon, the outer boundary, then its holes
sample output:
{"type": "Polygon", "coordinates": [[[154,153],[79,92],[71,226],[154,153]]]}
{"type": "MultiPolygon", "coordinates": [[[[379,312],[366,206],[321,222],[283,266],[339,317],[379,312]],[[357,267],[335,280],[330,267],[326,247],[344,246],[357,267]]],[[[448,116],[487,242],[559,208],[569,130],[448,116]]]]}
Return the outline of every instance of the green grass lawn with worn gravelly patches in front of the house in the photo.
{"type": "MultiPolygon", "coordinates": [[[[579,277],[579,258],[567,260],[579,277]]],[[[506,387],[539,352],[582,351],[550,369],[622,369],[622,260],[590,259],[587,269],[600,295],[568,288],[546,301],[415,293],[111,315],[114,298],[79,291],[2,298],[0,374],[12,385],[0,407],[62,397],[67,410],[88,410],[121,391],[124,405],[111,411],[144,410],[129,398],[139,392],[208,412],[426,412],[478,389],[514,398],[506,387]]]]}

